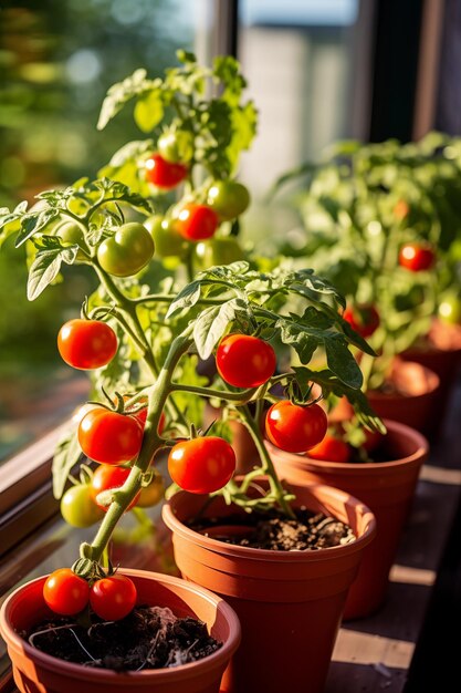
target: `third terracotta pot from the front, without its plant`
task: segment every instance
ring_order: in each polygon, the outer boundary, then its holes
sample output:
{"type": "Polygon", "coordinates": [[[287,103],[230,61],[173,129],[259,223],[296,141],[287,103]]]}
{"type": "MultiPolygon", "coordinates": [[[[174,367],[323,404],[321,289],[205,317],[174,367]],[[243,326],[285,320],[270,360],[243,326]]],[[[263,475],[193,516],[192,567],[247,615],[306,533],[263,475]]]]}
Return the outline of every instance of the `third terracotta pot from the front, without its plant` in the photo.
{"type": "Polygon", "coordinates": [[[377,536],[364,551],[357,578],[347,597],[345,619],[368,616],[383,603],[418,474],[428,455],[428,442],[420,433],[394,421],[385,423],[388,431],[385,449],[389,462],[323,462],[311,459],[308,454],[285,453],[266,443],[281,478],[289,483],[335,486],[360,498],[376,516],[377,536]]]}

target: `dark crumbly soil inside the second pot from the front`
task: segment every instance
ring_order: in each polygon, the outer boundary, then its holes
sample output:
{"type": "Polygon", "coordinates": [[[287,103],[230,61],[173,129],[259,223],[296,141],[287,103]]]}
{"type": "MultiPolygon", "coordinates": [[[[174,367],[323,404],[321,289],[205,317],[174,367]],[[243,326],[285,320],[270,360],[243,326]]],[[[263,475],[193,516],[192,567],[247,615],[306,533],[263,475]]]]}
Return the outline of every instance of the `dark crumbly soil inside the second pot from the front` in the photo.
{"type": "Polygon", "coordinates": [[[252,513],[226,518],[201,518],[191,527],[227,544],[275,551],[315,551],[350,544],[356,538],[348,525],[305,508],[296,510],[296,519],[273,511],[265,515],[252,513]],[[235,534],[232,527],[239,528],[235,534]],[[243,532],[242,527],[245,528],[243,532]]]}

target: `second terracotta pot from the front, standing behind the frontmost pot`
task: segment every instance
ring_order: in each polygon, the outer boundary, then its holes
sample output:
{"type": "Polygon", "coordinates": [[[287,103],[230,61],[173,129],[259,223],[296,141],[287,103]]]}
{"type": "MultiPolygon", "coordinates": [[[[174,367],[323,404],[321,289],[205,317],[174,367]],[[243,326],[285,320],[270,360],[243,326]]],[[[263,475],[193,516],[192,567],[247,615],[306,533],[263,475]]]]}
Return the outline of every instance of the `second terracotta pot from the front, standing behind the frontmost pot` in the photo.
{"type": "MultiPolygon", "coordinates": [[[[203,496],[182,492],[164,506],[182,576],[224,597],[242,624],[241,648],[221,684],[226,693],[321,693],[324,687],[347,590],[375,535],[375,518],[337,489],[294,485],[293,492],[298,505],[348,523],[357,540],[319,551],[233,546],[187,526],[203,509],[203,496]]],[[[205,514],[222,516],[226,525],[226,516],[235,511],[217,498],[205,514]]]]}

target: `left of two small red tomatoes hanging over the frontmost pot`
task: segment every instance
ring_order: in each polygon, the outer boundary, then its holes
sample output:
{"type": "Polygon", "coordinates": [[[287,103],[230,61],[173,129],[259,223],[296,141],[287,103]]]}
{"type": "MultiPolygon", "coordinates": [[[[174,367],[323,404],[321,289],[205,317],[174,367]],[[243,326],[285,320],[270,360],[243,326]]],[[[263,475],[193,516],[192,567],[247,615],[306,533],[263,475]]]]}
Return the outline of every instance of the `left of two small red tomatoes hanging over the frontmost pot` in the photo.
{"type": "Polygon", "coordinates": [[[90,586],[71,568],[59,568],[43,586],[43,599],[54,613],[74,616],[88,603],[90,586]]]}

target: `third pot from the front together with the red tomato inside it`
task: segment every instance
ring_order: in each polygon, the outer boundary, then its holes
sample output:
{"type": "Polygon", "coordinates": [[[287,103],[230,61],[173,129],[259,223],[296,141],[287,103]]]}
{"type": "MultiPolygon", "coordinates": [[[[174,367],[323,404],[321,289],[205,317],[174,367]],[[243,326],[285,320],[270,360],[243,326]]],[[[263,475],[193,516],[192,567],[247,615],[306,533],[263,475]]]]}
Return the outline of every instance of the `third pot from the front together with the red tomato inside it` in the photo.
{"type": "Polygon", "coordinates": [[[353,421],[332,423],[319,445],[304,455],[266,442],[279,475],[289,483],[326,484],[360,498],[373,510],[377,535],[364,552],[347,596],[344,619],[364,618],[383,603],[388,576],[411,507],[429,445],[418,431],[384,421],[386,434],[369,434],[353,421]]]}

